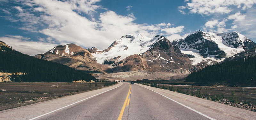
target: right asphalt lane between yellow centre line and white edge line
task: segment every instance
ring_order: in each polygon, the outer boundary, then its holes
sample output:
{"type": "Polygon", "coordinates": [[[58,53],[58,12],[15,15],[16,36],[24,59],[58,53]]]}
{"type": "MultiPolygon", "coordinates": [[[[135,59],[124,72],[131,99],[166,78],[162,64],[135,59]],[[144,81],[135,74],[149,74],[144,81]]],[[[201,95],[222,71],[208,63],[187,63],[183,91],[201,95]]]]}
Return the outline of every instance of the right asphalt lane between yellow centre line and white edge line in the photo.
{"type": "Polygon", "coordinates": [[[206,117],[139,85],[131,85],[126,120],[205,120],[206,117]]]}

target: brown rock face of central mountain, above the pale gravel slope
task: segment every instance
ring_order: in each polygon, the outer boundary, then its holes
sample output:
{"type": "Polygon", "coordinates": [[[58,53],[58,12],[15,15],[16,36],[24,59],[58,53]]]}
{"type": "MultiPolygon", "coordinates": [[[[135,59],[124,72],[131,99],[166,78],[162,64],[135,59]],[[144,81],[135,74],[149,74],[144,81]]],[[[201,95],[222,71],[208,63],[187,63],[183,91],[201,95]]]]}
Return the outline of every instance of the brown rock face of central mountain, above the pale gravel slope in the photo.
{"type": "MultiPolygon", "coordinates": [[[[159,38],[162,38],[161,36],[159,38]]],[[[141,54],[131,55],[124,60],[116,61],[115,59],[105,61],[105,64],[111,65],[112,73],[128,72],[128,71],[149,71],[149,72],[174,72],[189,71],[193,72],[197,70],[191,64],[187,55],[183,55],[180,49],[166,39],[162,38],[155,44],[151,45],[151,48],[141,54]],[[110,62],[111,61],[111,62],[110,62]]],[[[184,75],[189,72],[183,72],[184,75]]]]}

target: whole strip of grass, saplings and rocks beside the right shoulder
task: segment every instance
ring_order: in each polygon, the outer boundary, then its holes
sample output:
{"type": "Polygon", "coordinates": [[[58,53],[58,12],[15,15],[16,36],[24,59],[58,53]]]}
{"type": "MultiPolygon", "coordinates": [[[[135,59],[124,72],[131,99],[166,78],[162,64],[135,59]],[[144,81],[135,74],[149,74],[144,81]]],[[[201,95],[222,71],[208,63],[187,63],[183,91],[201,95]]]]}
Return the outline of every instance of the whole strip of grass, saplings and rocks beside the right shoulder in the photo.
{"type": "MultiPolygon", "coordinates": [[[[192,86],[192,85],[172,85],[172,84],[158,84],[157,82],[141,82],[136,83],[144,84],[160,89],[179,92],[199,98],[204,98],[223,104],[232,105],[235,107],[246,108],[246,106],[256,105],[256,88],[255,87],[222,87],[222,86],[192,86]],[[241,107],[245,105],[245,107],[241,107]]],[[[162,83],[162,82],[159,82],[162,83]]],[[[250,107],[248,108],[250,109],[250,107]]]]}

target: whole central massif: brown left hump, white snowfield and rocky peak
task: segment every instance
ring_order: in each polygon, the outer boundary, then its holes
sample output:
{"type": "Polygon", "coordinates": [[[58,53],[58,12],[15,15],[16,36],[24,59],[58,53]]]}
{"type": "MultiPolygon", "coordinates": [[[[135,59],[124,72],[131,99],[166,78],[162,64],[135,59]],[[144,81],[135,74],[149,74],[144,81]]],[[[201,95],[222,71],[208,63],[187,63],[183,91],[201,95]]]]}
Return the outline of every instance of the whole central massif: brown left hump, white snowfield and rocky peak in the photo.
{"type": "Polygon", "coordinates": [[[159,79],[172,79],[176,78],[175,76],[180,78],[197,70],[191,64],[188,55],[183,55],[178,47],[159,35],[153,39],[141,34],[122,36],[103,51],[99,51],[96,47],[84,49],[75,44],[59,45],[35,57],[78,70],[100,71],[120,76],[140,74],[139,78],[142,79],[157,79],[157,74],[162,75],[158,76],[159,79]],[[130,52],[133,54],[127,55],[130,52]],[[94,55],[105,54],[110,56],[105,57],[106,59],[103,59],[100,64],[94,55]],[[122,72],[129,74],[121,74],[122,72]]]}

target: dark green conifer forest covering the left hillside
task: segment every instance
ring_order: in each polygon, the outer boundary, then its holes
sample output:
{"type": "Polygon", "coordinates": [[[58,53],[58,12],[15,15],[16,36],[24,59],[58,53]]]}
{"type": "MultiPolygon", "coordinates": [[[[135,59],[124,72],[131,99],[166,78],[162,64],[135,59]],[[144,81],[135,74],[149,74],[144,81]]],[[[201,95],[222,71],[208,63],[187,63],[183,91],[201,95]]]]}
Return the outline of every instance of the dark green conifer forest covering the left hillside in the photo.
{"type": "Polygon", "coordinates": [[[96,80],[82,71],[52,61],[37,59],[6,46],[0,46],[0,72],[24,73],[13,74],[11,80],[14,82],[72,82],[77,80],[89,82],[96,80]]]}

